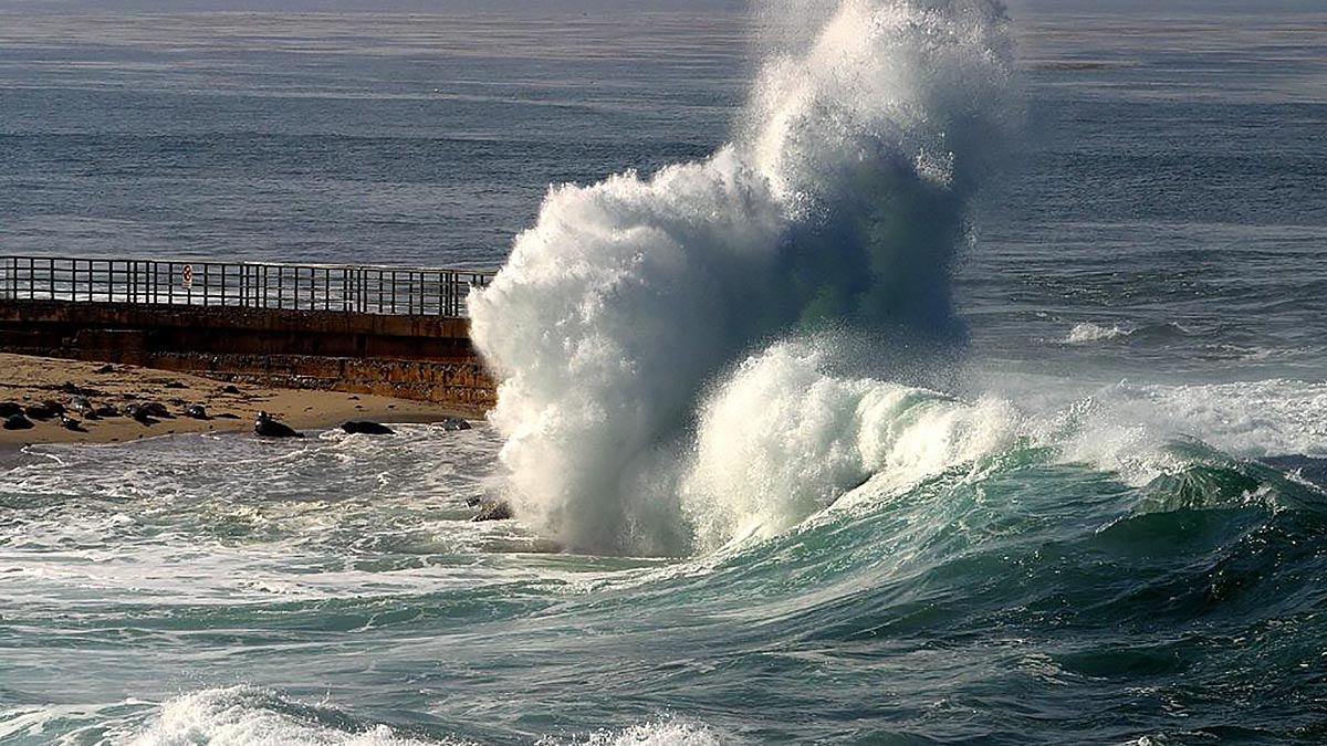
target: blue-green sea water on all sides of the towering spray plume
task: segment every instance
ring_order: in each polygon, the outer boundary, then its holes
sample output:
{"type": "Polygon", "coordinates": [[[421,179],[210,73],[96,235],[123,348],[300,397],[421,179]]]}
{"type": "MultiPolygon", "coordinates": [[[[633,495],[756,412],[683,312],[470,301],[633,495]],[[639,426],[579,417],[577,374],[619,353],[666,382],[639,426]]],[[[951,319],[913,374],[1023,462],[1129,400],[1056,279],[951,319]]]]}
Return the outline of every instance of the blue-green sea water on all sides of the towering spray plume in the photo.
{"type": "MultiPolygon", "coordinates": [[[[1327,15],[1291,11],[1015,17],[951,390],[771,386],[738,498],[878,463],[768,535],[467,523],[490,427],[29,451],[0,743],[1327,742],[1327,15]]],[[[498,265],[551,183],[733,138],[755,23],[0,16],[0,252],[498,265]]]]}

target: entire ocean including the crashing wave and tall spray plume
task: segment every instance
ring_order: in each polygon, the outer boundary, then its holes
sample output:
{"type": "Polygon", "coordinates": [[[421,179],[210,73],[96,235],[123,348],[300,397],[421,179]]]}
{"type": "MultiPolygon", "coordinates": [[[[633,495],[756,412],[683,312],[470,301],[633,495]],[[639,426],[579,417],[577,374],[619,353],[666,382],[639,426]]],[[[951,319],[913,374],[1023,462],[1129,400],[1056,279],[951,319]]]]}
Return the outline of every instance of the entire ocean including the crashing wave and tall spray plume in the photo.
{"type": "Polygon", "coordinates": [[[0,743],[1327,742],[1310,5],[5,5],[0,254],[504,268],[474,430],[0,471],[0,743]]]}

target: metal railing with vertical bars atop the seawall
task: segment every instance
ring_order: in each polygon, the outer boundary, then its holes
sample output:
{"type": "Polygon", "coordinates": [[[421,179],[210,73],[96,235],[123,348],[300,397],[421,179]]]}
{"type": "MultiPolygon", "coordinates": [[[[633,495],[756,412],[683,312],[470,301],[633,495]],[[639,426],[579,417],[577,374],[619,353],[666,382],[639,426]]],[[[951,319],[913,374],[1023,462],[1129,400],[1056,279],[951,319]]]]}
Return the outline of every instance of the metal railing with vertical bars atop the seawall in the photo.
{"type": "Polygon", "coordinates": [[[466,316],[491,271],[0,256],[0,299],[466,316]]]}

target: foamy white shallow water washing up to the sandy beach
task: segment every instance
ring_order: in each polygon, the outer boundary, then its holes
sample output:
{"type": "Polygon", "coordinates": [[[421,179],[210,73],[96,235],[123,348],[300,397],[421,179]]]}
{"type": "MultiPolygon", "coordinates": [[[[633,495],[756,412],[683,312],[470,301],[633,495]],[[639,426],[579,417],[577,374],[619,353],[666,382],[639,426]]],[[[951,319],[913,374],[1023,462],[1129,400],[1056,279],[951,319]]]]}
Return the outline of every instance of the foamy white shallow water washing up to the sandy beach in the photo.
{"type": "Polygon", "coordinates": [[[390,443],[324,434],[37,446],[56,458],[0,471],[0,498],[21,506],[0,524],[0,593],[42,615],[107,613],[86,595],[228,605],[543,577],[419,559],[541,546],[508,522],[468,522],[463,500],[484,492],[499,445],[490,427],[397,431],[390,443]]]}

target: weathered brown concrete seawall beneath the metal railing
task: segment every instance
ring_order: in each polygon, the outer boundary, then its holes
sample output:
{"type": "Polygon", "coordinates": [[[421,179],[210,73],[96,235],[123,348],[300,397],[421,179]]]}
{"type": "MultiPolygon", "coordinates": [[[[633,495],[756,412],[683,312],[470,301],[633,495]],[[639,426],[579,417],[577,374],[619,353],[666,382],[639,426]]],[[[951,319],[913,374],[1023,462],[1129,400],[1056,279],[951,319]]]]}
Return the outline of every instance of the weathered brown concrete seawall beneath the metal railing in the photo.
{"type": "Polygon", "coordinates": [[[463,319],[0,300],[0,350],[467,410],[495,398],[463,319]]]}

